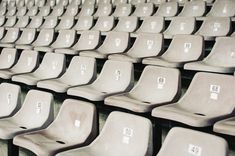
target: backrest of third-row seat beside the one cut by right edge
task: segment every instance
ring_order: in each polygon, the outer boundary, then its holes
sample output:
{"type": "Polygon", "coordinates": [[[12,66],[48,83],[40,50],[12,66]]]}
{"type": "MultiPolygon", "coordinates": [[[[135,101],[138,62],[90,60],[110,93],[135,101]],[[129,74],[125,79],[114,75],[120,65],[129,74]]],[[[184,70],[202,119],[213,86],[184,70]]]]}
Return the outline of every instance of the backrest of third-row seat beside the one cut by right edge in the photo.
{"type": "Polygon", "coordinates": [[[203,37],[197,35],[176,35],[167,51],[161,56],[172,62],[190,62],[204,54],[203,37]]]}

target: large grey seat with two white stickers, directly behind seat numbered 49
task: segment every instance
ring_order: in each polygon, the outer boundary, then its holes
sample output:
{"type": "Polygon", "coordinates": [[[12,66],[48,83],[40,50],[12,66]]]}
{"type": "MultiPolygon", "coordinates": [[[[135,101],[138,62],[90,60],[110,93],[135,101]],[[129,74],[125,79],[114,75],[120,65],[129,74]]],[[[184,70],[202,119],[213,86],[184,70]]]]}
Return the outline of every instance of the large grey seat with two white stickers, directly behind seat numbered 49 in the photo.
{"type": "Polygon", "coordinates": [[[152,116],[192,127],[209,127],[233,115],[234,91],[234,76],[197,73],[177,103],[153,109],[152,116]]]}

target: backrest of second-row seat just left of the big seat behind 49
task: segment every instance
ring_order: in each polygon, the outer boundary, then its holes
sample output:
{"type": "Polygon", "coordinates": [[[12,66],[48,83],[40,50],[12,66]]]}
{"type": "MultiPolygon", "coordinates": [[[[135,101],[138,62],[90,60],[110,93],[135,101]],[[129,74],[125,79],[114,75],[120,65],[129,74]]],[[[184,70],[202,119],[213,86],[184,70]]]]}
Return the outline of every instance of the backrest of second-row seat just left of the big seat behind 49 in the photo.
{"type": "Polygon", "coordinates": [[[164,104],[179,97],[181,89],[180,71],[175,68],[146,66],[130,96],[141,101],[164,104]]]}

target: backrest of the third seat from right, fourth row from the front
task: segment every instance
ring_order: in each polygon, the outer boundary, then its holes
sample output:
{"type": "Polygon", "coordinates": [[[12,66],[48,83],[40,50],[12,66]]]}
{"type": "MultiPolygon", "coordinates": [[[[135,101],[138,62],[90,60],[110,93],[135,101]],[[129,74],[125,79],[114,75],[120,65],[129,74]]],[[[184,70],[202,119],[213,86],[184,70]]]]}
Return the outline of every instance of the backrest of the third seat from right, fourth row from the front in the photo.
{"type": "Polygon", "coordinates": [[[146,17],[141,24],[137,33],[161,33],[165,29],[163,17],[150,16],[146,17]]]}

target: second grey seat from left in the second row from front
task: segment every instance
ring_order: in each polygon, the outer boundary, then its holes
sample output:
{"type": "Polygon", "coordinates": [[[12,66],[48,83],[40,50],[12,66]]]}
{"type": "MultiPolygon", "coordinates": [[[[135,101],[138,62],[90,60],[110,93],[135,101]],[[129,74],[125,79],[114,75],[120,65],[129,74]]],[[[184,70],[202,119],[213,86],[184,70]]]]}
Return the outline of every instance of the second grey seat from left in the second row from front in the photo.
{"type": "Polygon", "coordinates": [[[2,79],[10,79],[13,75],[32,72],[38,64],[39,54],[36,51],[22,51],[17,63],[10,69],[0,70],[2,79]]]}

